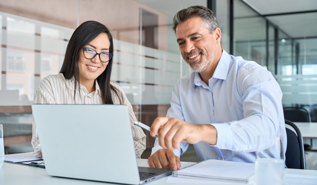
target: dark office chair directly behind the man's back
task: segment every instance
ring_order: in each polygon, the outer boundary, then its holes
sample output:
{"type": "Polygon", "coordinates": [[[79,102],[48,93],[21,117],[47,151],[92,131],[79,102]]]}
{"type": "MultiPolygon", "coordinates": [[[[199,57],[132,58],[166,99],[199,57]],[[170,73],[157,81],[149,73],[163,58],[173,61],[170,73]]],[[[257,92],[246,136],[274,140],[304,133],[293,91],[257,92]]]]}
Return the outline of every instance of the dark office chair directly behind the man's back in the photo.
{"type": "Polygon", "coordinates": [[[287,147],[285,152],[285,164],[287,168],[306,170],[303,137],[299,128],[291,121],[285,120],[285,124],[294,128],[292,131],[286,128],[287,147]]]}

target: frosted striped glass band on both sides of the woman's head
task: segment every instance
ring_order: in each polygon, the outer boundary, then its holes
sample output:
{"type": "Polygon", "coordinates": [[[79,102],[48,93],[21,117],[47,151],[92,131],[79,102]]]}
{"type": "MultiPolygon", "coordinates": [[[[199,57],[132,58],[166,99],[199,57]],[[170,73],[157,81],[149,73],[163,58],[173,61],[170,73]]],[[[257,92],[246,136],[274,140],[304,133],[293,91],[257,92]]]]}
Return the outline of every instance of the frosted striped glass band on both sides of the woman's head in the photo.
{"type": "MultiPolygon", "coordinates": [[[[11,105],[31,105],[41,79],[61,69],[74,29],[3,15],[8,27],[2,29],[5,42],[1,44],[6,45],[2,48],[6,53],[6,63],[2,65],[6,69],[6,88],[2,93],[16,96],[11,105]]],[[[184,64],[180,54],[117,39],[113,42],[111,80],[122,85],[131,103],[169,104],[172,87],[181,77],[184,64]]],[[[1,101],[0,105],[10,105],[9,102],[1,101]]]]}

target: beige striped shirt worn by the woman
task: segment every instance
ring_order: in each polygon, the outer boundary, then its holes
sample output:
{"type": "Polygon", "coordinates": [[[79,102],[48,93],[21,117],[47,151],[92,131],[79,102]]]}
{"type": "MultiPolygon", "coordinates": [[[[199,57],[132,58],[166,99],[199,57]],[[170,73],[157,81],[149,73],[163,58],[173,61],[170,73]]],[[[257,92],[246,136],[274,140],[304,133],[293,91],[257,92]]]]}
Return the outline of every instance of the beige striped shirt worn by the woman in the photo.
{"type": "MultiPolygon", "coordinates": [[[[122,88],[113,82],[110,83],[119,90],[119,93],[122,94],[123,97],[123,104],[128,106],[134,140],[135,155],[137,158],[140,158],[142,152],[145,150],[146,135],[141,128],[133,124],[133,122],[137,119],[133,113],[132,106],[126,98],[126,95],[123,92],[122,88]]],[[[112,99],[113,104],[120,104],[120,100],[114,94],[114,92],[112,92],[112,99]]],[[[80,85],[80,87],[77,87],[75,101],[74,80],[66,80],[63,74],[49,75],[45,77],[42,80],[40,86],[36,89],[34,96],[34,104],[102,104],[102,98],[97,81],[96,90],[91,93],[87,91],[85,86],[80,85]],[[79,90],[81,96],[79,96],[79,90]]],[[[38,134],[36,131],[36,124],[33,118],[32,126],[33,134],[31,143],[36,157],[42,157],[41,144],[39,142],[38,134]]]]}

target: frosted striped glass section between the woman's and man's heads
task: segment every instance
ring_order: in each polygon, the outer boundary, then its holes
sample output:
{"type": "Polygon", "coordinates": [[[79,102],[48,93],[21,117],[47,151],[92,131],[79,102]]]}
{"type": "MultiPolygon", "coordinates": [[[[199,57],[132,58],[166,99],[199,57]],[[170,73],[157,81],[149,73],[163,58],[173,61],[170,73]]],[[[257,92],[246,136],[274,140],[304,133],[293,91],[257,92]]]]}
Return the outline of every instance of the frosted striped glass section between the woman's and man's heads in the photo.
{"type": "Polygon", "coordinates": [[[179,54],[120,40],[114,41],[114,50],[111,80],[133,104],[169,104],[184,62],[179,54]]]}

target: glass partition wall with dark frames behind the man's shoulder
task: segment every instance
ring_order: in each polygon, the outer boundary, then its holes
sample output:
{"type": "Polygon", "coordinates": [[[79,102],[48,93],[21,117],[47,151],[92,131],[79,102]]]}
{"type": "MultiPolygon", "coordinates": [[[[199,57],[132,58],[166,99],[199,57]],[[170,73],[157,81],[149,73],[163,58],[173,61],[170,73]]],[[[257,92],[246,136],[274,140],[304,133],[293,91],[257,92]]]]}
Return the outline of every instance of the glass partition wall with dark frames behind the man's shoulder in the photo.
{"type": "Polygon", "coordinates": [[[317,13],[263,16],[242,0],[232,2],[233,55],[253,60],[275,76],[283,106],[316,109],[317,13]]]}

